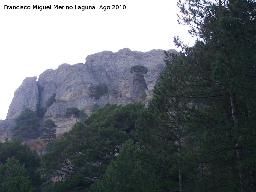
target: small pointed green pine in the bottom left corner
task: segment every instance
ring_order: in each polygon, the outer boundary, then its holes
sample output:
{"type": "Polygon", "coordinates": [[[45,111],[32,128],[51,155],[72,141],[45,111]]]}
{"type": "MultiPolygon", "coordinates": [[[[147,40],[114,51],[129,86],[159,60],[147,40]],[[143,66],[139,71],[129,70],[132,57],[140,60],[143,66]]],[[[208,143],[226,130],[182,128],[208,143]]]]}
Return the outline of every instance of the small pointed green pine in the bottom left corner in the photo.
{"type": "Polygon", "coordinates": [[[32,192],[33,187],[26,175],[25,166],[21,165],[14,157],[6,159],[5,164],[0,164],[0,191],[1,192],[32,192]]]}

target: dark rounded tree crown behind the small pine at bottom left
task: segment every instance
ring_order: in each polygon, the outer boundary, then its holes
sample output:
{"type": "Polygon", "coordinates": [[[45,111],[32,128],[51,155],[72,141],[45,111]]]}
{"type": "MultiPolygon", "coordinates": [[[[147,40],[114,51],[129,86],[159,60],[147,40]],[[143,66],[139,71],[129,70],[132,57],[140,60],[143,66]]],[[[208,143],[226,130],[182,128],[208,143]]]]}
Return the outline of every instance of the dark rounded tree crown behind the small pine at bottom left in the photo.
{"type": "Polygon", "coordinates": [[[0,142],[0,164],[6,164],[9,157],[17,159],[19,164],[24,164],[25,176],[29,176],[32,186],[38,188],[41,184],[40,174],[37,173],[37,168],[40,166],[40,158],[36,151],[31,151],[27,144],[21,144],[22,140],[20,138],[12,138],[12,141],[5,141],[4,143],[0,142]]]}

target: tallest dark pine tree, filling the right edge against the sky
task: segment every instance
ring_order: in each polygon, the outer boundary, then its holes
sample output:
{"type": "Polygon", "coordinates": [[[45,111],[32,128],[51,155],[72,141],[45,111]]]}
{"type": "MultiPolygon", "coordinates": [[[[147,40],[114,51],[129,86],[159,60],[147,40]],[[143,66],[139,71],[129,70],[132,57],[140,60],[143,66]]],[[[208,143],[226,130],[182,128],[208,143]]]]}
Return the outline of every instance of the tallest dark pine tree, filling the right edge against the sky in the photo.
{"type": "Polygon", "coordinates": [[[200,182],[214,178],[205,190],[254,190],[255,2],[192,0],[178,6],[189,32],[201,38],[192,48],[175,38],[188,77],[190,94],[184,96],[194,100],[186,115],[193,133],[187,137],[193,143],[185,142],[189,158],[201,165],[200,182]]]}

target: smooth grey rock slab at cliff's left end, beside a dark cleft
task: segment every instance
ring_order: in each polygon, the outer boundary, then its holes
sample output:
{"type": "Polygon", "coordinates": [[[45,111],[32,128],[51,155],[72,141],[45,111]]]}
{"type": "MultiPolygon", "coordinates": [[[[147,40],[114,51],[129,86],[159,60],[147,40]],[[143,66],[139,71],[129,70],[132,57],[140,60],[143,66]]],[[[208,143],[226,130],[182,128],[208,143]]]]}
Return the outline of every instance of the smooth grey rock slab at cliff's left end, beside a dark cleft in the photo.
{"type": "Polygon", "coordinates": [[[24,108],[36,111],[39,104],[36,79],[36,76],[25,78],[20,87],[14,92],[14,97],[7,113],[7,119],[16,119],[24,108]]]}

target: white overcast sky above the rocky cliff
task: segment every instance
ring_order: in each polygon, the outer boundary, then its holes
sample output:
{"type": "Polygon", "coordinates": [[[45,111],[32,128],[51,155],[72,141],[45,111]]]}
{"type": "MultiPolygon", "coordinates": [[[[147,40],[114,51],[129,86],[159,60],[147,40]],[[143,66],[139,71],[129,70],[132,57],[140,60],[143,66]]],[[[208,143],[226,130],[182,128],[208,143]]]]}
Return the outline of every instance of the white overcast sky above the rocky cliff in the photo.
{"type": "Polygon", "coordinates": [[[1,0],[0,119],[5,119],[14,91],[26,77],[39,76],[62,63],[85,63],[87,55],[123,48],[147,52],[177,49],[173,37],[194,44],[188,26],[178,25],[176,0],[1,0]],[[30,10],[6,10],[30,6],[30,10]],[[51,10],[33,10],[33,5],[51,10]],[[73,6],[53,10],[53,5],[73,6]],[[75,10],[95,6],[97,10],[75,10]],[[100,10],[100,5],[110,10],[100,10]],[[112,5],[126,9],[112,10],[112,5]]]}

